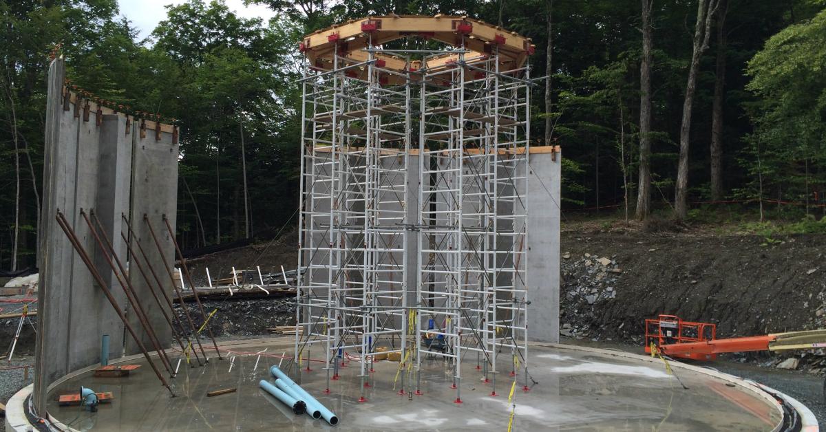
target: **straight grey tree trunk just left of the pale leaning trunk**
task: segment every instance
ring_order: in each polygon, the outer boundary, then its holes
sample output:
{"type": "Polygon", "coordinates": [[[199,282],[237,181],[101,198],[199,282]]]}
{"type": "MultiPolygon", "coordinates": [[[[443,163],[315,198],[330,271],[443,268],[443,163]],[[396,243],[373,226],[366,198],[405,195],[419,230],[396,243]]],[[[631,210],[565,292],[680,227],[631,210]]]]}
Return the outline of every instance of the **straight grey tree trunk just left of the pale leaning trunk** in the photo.
{"type": "Polygon", "coordinates": [[[639,180],[636,216],[640,221],[651,212],[651,7],[643,0],[643,59],[639,65],[639,180]]]}

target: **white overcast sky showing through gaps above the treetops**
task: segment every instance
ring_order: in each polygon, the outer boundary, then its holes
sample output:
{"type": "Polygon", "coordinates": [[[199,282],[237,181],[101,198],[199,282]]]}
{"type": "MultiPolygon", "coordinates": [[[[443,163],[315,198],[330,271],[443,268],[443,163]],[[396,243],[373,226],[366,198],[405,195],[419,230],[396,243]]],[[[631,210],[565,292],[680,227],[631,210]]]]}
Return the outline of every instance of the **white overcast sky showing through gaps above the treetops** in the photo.
{"type": "MultiPolygon", "coordinates": [[[[118,0],[121,15],[132,21],[132,25],[140,31],[139,37],[145,38],[154,30],[160,21],[166,19],[168,4],[180,4],[184,0],[118,0]]],[[[263,5],[244,6],[244,0],[225,0],[226,6],[239,17],[259,17],[263,21],[275,16],[275,12],[263,5]]]]}

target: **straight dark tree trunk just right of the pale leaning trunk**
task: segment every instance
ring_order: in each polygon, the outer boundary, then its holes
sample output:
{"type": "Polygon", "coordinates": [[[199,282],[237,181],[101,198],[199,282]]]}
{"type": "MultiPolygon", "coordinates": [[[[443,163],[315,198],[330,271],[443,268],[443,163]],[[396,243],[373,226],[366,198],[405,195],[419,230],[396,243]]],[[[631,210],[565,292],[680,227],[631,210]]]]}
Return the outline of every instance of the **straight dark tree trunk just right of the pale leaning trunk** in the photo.
{"type": "Polygon", "coordinates": [[[723,102],[725,100],[726,34],[728,0],[720,0],[717,17],[717,66],[714,74],[714,102],[711,109],[711,199],[723,199],[723,102]]]}

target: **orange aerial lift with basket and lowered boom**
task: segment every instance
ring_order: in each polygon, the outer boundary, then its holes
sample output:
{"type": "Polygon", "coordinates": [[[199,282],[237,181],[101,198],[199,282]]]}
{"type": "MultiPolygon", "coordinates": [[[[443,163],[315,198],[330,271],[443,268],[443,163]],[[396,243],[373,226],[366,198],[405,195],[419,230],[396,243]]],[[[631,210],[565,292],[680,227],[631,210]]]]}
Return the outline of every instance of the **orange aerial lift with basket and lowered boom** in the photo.
{"type": "Polygon", "coordinates": [[[826,330],[717,339],[717,326],[714,324],[660,315],[657,319],[645,320],[646,353],[651,353],[652,345],[660,353],[671,357],[711,360],[717,358],[719,353],[823,348],[826,347],[826,330]]]}

